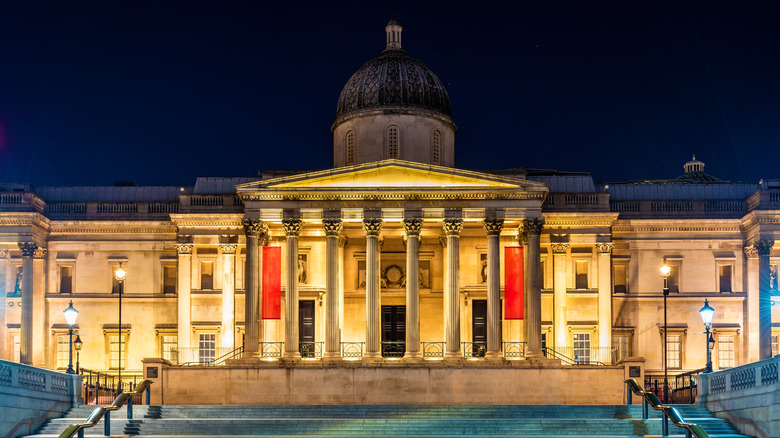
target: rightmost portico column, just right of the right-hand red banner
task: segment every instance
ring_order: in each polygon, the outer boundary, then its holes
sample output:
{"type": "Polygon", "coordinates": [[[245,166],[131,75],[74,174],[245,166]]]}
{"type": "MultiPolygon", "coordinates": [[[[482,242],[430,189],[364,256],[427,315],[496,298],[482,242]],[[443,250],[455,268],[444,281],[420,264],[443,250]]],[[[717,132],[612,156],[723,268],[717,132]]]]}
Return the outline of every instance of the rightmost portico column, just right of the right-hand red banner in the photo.
{"type": "Polygon", "coordinates": [[[528,233],[528,351],[530,358],[542,357],[542,285],[539,259],[539,239],[544,226],[543,218],[526,219],[528,233]]]}

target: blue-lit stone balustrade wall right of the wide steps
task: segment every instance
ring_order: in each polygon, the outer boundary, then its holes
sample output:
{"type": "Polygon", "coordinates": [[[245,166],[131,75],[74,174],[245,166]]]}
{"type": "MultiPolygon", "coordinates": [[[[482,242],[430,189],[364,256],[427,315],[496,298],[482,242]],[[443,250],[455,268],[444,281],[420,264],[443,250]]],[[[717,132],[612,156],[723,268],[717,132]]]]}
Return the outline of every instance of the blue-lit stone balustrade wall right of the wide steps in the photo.
{"type": "Polygon", "coordinates": [[[745,435],[780,437],[780,356],[699,375],[697,401],[745,435]]]}

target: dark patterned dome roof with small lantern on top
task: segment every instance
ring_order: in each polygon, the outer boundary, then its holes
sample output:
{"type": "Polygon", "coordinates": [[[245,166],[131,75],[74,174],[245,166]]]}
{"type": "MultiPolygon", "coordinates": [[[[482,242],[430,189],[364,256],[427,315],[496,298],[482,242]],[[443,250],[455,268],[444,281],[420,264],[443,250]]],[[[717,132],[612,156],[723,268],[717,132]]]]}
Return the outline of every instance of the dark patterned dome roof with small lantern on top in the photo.
{"type": "Polygon", "coordinates": [[[387,48],[363,64],[341,90],[334,127],[366,111],[427,113],[454,126],[450,98],[439,78],[401,48],[401,26],[387,25],[387,48]]]}

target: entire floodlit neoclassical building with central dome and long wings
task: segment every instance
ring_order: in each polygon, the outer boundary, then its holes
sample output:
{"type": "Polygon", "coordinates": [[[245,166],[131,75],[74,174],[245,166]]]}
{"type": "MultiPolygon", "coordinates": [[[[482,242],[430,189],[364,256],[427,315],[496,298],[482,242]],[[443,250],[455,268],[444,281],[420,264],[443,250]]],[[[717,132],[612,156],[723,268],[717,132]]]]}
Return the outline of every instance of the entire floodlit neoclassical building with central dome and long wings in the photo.
{"type": "Polygon", "coordinates": [[[243,348],[282,361],[643,357],[658,374],[665,339],[676,374],[704,367],[705,300],[716,369],[777,353],[780,181],[721,181],[695,158],[676,179],[604,186],[525,163],[457,168],[447,92],[401,30],[392,19],[344,87],[332,168],[0,184],[0,358],[66,368],[71,301],[81,366],[109,373],[120,348],[126,374],[243,348]],[[505,318],[507,248],[522,248],[523,319],[505,318]]]}

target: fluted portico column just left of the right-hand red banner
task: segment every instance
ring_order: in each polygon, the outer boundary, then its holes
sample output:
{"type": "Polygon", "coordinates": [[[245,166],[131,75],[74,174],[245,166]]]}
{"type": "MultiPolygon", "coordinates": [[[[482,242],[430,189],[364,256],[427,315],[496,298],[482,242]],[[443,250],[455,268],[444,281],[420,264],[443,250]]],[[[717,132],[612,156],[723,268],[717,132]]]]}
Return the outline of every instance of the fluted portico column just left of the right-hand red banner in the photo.
{"type": "Polygon", "coordinates": [[[485,219],[488,236],[487,253],[487,351],[486,358],[501,357],[501,254],[498,238],[504,228],[503,219],[485,219]]]}

